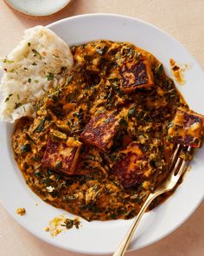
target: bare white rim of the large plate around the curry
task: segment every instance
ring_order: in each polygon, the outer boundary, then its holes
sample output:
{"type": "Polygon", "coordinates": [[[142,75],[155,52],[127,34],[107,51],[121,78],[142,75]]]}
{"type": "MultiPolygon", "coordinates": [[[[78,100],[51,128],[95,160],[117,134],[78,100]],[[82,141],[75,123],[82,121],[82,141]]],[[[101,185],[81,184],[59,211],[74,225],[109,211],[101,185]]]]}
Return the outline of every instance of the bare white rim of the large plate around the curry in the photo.
{"type": "MultiPolygon", "coordinates": [[[[190,107],[204,114],[204,74],[194,58],[174,38],[162,30],[127,16],[92,14],[73,16],[48,26],[69,44],[84,43],[95,39],[127,41],[149,50],[169,73],[169,58],[188,63],[187,83],[179,87],[190,107]]],[[[41,201],[26,186],[10,148],[13,126],[0,123],[0,197],[10,214],[31,233],[54,246],[60,246],[79,253],[112,253],[131,226],[132,220],[92,221],[82,220],[83,227],[72,229],[51,238],[44,231],[48,221],[64,211],[41,201]],[[35,206],[38,203],[39,206],[35,206]],[[27,214],[16,215],[17,207],[25,207],[27,214]]],[[[160,240],[180,226],[198,207],[204,194],[204,147],[198,150],[181,186],[163,205],[145,213],[132,240],[130,250],[136,250],[160,240]]],[[[67,213],[72,217],[72,214],[67,213]]]]}

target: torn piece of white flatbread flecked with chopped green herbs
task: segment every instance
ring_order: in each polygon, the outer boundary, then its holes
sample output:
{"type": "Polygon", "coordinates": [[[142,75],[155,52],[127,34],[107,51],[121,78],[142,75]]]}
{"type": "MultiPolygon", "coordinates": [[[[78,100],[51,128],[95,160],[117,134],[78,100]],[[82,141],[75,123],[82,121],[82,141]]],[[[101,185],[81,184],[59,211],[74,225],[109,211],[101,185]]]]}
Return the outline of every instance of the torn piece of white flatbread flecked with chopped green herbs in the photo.
{"type": "Polygon", "coordinates": [[[32,116],[36,102],[49,88],[63,82],[63,73],[72,64],[69,46],[54,32],[42,26],[25,30],[22,41],[1,59],[1,119],[14,122],[32,116]]]}

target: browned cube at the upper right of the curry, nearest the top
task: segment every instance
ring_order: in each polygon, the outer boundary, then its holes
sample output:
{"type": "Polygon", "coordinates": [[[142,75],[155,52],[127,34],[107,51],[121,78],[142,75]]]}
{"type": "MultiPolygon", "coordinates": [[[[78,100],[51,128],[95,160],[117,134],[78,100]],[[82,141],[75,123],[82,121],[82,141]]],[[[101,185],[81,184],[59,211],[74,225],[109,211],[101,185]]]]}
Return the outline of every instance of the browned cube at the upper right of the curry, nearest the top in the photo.
{"type": "Polygon", "coordinates": [[[149,88],[154,84],[154,76],[148,60],[138,63],[124,62],[120,75],[122,76],[121,88],[125,93],[131,93],[135,89],[149,88]]]}

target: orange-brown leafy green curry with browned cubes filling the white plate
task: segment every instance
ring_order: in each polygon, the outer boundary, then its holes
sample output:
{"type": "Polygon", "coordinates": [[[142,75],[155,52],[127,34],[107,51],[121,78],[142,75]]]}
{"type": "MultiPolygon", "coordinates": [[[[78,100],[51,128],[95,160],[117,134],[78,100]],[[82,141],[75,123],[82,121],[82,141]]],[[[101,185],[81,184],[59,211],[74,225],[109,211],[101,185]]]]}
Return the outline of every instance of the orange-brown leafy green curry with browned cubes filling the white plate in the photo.
{"type": "Polygon", "coordinates": [[[130,219],[168,175],[175,143],[201,147],[203,117],[163,64],[131,43],[97,40],[71,52],[63,82],[16,121],[15,159],[54,207],[86,220],[130,219]]]}

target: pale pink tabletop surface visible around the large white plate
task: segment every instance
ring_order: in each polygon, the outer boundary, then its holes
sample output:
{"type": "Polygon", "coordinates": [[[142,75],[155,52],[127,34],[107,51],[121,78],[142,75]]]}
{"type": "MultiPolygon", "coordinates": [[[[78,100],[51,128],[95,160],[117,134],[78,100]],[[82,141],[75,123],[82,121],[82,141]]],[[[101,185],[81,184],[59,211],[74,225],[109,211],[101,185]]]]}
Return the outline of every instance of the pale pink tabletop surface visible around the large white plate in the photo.
{"type": "MultiPolygon", "coordinates": [[[[0,56],[10,52],[26,28],[37,24],[46,25],[67,16],[92,12],[124,14],[153,23],[175,36],[204,67],[204,0],[73,0],[60,14],[40,20],[30,20],[26,16],[16,14],[3,3],[3,0],[0,0],[0,56]]],[[[193,187],[192,193],[194,193],[193,187]]],[[[203,256],[204,203],[168,237],[152,246],[127,254],[129,256],[203,256]]],[[[5,255],[80,256],[81,254],[63,251],[35,238],[19,226],[0,205],[0,256],[5,255]]]]}

